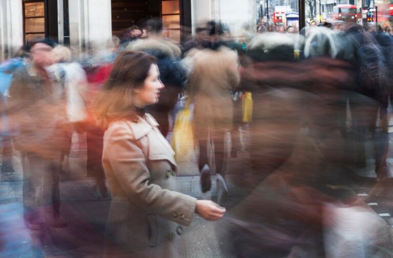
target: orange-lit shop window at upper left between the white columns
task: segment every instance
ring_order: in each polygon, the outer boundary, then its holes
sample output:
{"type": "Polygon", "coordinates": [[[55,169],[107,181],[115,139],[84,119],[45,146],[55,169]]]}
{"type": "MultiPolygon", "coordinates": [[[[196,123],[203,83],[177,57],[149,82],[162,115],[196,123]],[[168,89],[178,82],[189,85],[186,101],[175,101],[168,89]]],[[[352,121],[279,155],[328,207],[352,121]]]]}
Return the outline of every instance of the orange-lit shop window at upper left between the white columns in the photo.
{"type": "Polygon", "coordinates": [[[45,4],[43,1],[24,2],[25,43],[45,37],[45,4]]]}

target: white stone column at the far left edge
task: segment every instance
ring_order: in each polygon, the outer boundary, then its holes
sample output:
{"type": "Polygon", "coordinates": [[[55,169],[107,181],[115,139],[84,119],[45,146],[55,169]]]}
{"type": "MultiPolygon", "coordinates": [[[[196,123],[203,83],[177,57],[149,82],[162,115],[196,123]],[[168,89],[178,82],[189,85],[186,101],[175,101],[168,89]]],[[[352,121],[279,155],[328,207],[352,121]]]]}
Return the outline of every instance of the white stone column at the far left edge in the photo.
{"type": "Polygon", "coordinates": [[[23,46],[22,1],[0,1],[0,60],[11,58],[23,46]]]}

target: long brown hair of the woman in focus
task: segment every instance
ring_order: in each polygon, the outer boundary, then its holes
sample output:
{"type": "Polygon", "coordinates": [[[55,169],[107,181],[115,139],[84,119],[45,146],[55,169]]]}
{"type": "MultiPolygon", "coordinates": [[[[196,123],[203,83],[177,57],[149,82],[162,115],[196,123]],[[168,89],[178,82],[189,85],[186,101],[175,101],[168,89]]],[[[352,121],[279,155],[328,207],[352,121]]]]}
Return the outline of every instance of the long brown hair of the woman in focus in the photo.
{"type": "Polygon", "coordinates": [[[133,90],[143,87],[155,63],[154,56],[143,52],[119,54],[96,102],[97,121],[104,129],[112,120],[135,116],[133,90]]]}

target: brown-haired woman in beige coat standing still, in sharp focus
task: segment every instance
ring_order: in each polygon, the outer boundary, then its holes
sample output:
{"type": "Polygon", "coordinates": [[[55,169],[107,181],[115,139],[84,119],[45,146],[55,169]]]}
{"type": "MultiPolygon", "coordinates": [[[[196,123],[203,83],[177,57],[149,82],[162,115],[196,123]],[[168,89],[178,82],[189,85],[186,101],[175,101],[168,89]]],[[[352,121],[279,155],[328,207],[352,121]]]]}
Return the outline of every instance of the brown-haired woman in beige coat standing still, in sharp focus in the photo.
{"type": "Polygon", "coordinates": [[[97,103],[112,195],[106,257],[187,257],[181,225],[188,226],[193,213],[215,221],[226,211],[178,192],[174,152],[143,109],[158,101],[164,88],[159,76],[154,57],[125,51],[97,103]]]}

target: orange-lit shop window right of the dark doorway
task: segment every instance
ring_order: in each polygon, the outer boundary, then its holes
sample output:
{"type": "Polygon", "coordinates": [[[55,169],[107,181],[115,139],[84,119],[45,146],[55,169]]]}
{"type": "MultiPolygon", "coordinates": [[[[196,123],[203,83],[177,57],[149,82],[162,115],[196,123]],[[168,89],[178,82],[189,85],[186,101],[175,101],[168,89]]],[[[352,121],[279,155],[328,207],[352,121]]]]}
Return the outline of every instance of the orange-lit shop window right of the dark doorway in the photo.
{"type": "Polygon", "coordinates": [[[180,42],[180,3],[179,0],[162,0],[162,25],[164,36],[180,42]]]}

